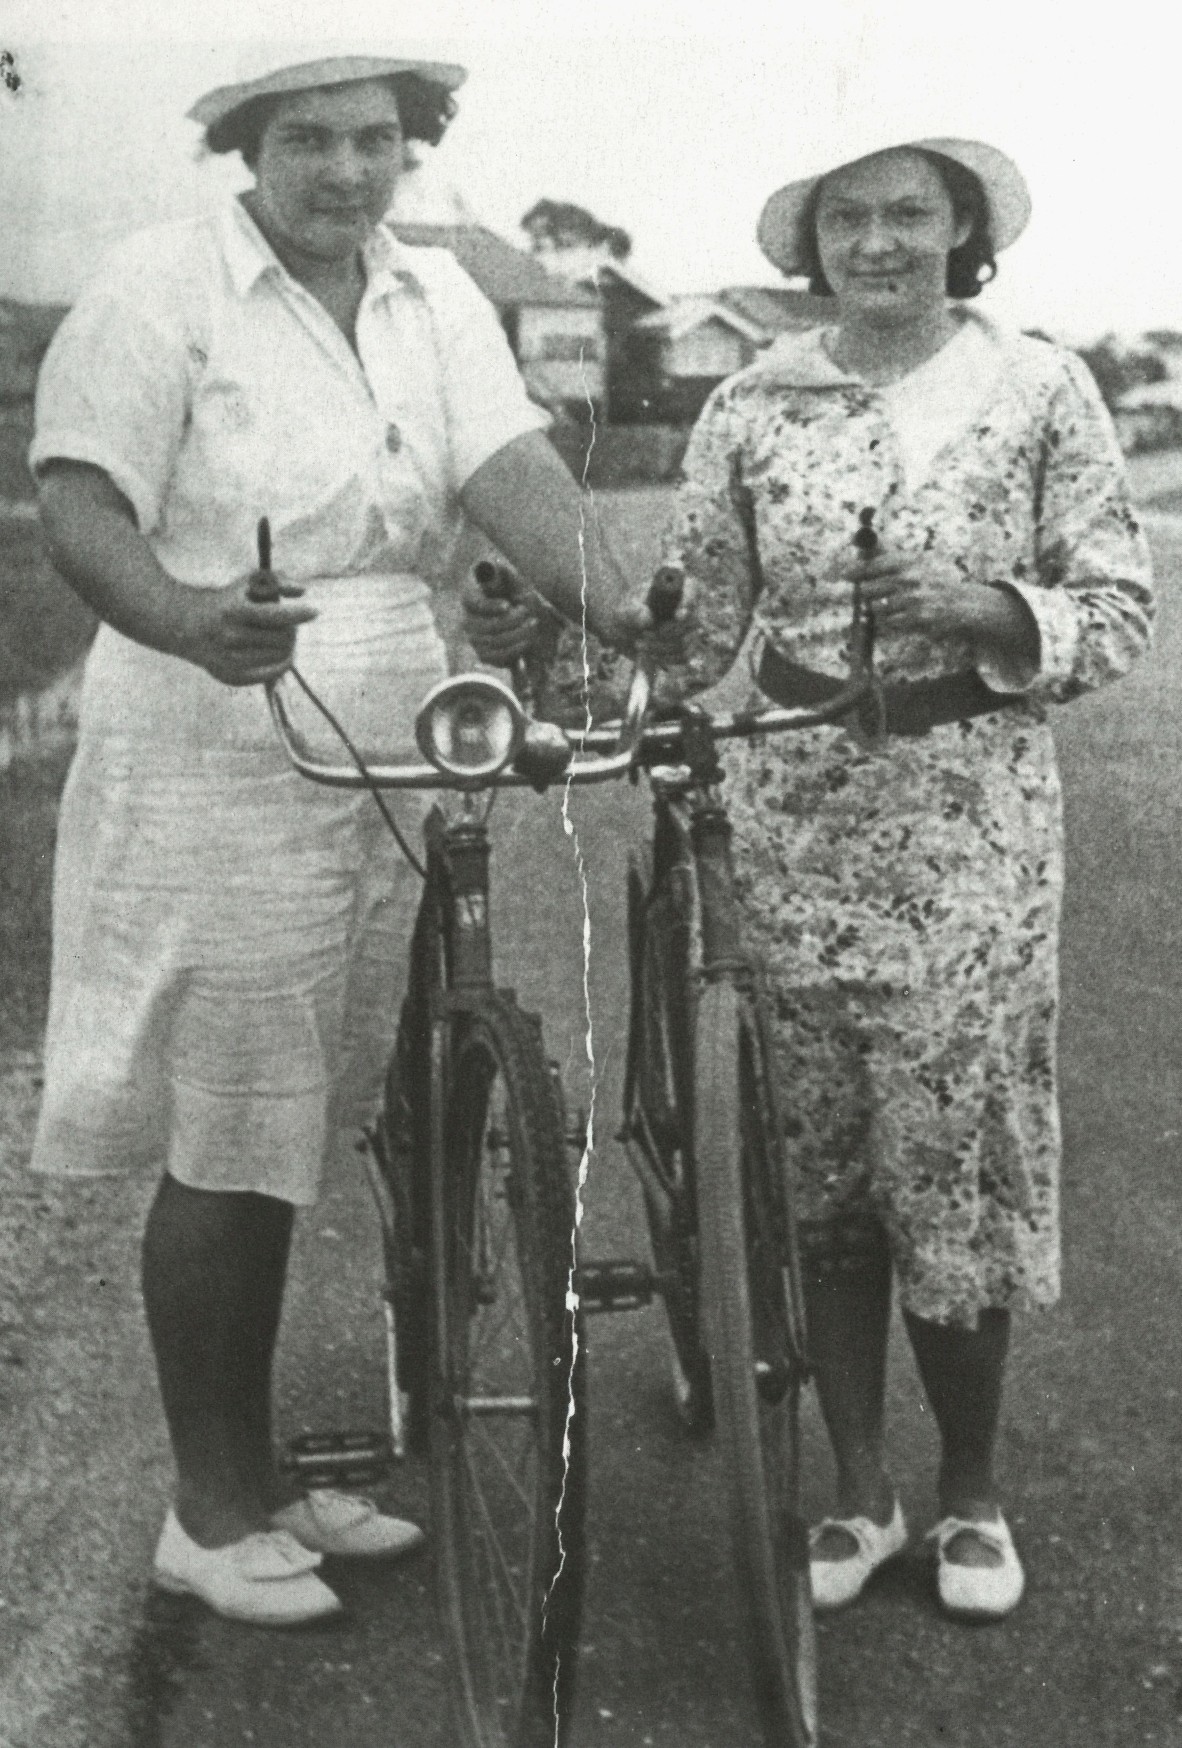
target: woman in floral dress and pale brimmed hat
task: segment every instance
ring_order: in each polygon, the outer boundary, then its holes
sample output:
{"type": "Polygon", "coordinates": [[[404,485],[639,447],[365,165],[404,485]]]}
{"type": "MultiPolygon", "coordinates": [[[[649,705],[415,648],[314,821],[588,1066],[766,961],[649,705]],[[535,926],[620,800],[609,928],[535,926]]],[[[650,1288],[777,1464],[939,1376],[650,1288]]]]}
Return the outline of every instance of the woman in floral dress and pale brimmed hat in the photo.
{"type": "Polygon", "coordinates": [[[1047,717],[1119,676],[1152,615],[1086,369],[963,306],[1026,217],[1016,166],[962,140],[773,196],[761,243],[832,295],[834,323],[715,392],[670,542],[691,582],[678,690],[726,673],[752,629],[790,657],[782,703],[804,701],[801,669],[838,682],[857,577],[904,731],[876,745],[818,727],[727,753],[838,1468],[838,1512],[813,1531],[820,1608],[907,1540],[883,1440],[892,1278],[942,1440],[939,1596],[988,1619],[1023,1591],[991,1460],[1011,1313],[1060,1290],[1047,717]],[[869,559],[852,544],[867,509],[869,559]],[[897,690],[914,680],[939,682],[927,724],[920,694],[897,690]]]}

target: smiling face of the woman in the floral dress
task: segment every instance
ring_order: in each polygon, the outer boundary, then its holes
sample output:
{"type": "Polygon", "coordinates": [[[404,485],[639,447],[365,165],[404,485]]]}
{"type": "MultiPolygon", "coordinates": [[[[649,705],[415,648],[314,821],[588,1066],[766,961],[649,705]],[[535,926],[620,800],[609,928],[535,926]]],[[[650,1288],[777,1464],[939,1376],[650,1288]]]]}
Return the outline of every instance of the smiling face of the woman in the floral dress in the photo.
{"type": "Polygon", "coordinates": [[[817,253],[843,316],[892,325],[944,304],[948,253],[965,241],[939,171],[918,152],[878,152],[825,177],[817,253]]]}

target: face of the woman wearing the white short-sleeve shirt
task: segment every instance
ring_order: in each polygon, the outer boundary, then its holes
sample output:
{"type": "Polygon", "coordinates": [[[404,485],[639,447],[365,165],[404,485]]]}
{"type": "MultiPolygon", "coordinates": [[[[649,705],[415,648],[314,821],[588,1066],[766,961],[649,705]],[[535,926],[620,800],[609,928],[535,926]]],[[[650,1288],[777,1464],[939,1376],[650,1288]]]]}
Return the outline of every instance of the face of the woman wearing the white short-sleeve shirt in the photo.
{"type": "Polygon", "coordinates": [[[376,79],[297,91],[259,142],[252,210],[276,252],[343,260],[386,213],[402,168],[399,105],[376,79]]]}

